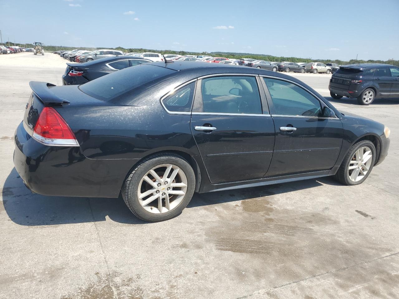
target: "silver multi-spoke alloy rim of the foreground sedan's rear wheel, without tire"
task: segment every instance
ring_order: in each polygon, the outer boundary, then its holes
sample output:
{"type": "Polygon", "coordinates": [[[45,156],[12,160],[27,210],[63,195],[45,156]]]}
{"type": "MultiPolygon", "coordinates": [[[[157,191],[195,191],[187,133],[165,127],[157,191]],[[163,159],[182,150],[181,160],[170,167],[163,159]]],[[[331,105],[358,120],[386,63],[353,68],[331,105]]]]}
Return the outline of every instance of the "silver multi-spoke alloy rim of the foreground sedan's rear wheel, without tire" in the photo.
{"type": "Polygon", "coordinates": [[[153,167],[138,184],[140,205],[152,214],[169,212],[183,201],[187,192],[187,177],[173,164],[153,167]]]}

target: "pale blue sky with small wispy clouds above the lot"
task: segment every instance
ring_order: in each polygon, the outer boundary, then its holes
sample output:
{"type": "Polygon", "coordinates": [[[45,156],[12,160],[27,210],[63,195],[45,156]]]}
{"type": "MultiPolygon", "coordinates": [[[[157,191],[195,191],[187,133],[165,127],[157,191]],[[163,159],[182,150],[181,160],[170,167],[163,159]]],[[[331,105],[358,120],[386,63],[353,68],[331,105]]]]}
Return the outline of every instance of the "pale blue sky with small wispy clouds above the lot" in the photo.
{"type": "Polygon", "coordinates": [[[399,59],[399,0],[0,0],[0,14],[3,41],[399,59]]]}

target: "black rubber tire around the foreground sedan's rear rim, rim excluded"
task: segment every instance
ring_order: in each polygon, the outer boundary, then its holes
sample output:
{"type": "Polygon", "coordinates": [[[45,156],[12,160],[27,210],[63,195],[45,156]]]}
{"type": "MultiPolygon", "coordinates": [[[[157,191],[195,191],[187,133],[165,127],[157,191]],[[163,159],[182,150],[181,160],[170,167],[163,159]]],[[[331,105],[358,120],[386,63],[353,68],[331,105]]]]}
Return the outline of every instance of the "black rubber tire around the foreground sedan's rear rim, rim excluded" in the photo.
{"type": "Polygon", "coordinates": [[[191,165],[179,155],[174,153],[154,154],[142,160],[127,177],[122,187],[122,197],[130,211],[141,220],[158,222],[178,216],[190,203],[196,185],[196,177],[191,165]],[[139,203],[137,189],[142,177],[153,167],[161,164],[174,164],[182,171],[187,178],[187,191],[182,202],[174,209],[162,214],[153,214],[146,211],[139,203]]]}

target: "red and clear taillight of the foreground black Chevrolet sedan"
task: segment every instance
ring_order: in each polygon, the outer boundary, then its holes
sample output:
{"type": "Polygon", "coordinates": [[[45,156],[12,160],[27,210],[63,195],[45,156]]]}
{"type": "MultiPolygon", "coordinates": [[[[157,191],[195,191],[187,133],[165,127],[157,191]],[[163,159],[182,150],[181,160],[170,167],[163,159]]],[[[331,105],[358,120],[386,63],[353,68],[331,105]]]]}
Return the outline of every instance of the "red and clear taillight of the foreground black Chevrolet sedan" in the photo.
{"type": "Polygon", "coordinates": [[[41,110],[32,137],[48,146],[79,146],[71,128],[51,107],[41,110]]]}

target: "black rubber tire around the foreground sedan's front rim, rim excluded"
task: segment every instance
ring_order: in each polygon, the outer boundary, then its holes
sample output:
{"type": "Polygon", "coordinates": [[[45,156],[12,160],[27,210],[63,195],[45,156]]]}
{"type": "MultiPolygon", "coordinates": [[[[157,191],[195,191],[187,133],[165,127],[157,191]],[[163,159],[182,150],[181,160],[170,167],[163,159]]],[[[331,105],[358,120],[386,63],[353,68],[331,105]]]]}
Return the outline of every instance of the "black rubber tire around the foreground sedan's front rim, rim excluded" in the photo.
{"type": "Polygon", "coordinates": [[[375,163],[375,146],[373,144],[373,142],[371,142],[370,140],[361,140],[359,142],[356,142],[346,153],[344,160],[341,163],[340,168],[338,169],[337,173],[335,174],[335,178],[342,184],[344,185],[348,185],[348,186],[353,186],[353,185],[359,185],[361,183],[364,182],[365,179],[367,179],[367,177],[369,176],[369,174],[371,173],[371,170],[373,169],[375,163]],[[371,161],[371,167],[369,168],[369,170],[367,171],[366,175],[357,182],[352,181],[349,178],[349,173],[348,173],[348,168],[350,165],[350,161],[354,155],[354,153],[361,147],[363,146],[367,146],[368,148],[371,149],[371,153],[372,153],[372,161],[371,161]]]}

